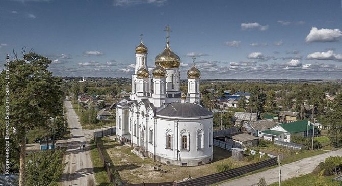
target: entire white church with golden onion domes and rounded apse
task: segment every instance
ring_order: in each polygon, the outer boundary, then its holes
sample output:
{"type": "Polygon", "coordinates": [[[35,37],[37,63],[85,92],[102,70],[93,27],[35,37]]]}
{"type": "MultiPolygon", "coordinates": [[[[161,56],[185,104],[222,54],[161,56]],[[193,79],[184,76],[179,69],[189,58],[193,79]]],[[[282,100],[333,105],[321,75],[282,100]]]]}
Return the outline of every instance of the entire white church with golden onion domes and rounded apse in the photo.
{"type": "MultiPolygon", "coordinates": [[[[169,28],[166,29],[169,31],[169,28]]],[[[168,33],[168,32],[167,32],[168,33]]],[[[147,47],[136,47],[130,98],[117,103],[117,139],[164,164],[195,166],[213,160],[213,113],[200,105],[200,71],[188,70],[188,92],[182,94],[180,58],[169,46],[147,70],[147,47]]]]}

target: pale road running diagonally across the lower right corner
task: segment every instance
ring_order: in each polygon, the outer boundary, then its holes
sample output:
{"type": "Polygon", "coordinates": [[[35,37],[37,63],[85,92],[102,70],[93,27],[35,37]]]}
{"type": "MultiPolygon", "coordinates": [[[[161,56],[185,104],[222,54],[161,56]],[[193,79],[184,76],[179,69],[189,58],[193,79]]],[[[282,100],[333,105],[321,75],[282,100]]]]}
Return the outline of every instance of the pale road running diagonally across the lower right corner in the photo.
{"type": "MultiPolygon", "coordinates": [[[[293,177],[298,177],[304,174],[311,173],[313,169],[320,163],[324,162],[325,158],[330,156],[337,156],[342,154],[342,149],[337,151],[327,152],[325,154],[316,155],[308,158],[304,158],[302,160],[285,164],[281,166],[281,180],[290,179],[293,177]]],[[[219,184],[220,186],[229,186],[229,185],[239,185],[239,186],[251,186],[257,185],[260,177],[264,177],[267,184],[271,184],[274,182],[278,182],[278,167],[269,169],[264,172],[259,172],[256,174],[252,174],[249,176],[245,176],[239,179],[235,179],[232,181],[228,181],[226,183],[219,184]]]]}

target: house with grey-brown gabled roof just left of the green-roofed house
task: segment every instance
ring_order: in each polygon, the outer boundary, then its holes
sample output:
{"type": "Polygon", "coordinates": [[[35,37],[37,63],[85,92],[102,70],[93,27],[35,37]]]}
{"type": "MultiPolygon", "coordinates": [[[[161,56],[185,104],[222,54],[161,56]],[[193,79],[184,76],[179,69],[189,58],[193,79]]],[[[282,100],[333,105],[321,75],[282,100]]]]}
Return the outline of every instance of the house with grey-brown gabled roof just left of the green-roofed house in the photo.
{"type": "Polygon", "coordinates": [[[239,131],[258,137],[261,135],[262,131],[272,128],[275,125],[276,122],[273,119],[247,121],[242,123],[242,126],[240,127],[239,131]]]}

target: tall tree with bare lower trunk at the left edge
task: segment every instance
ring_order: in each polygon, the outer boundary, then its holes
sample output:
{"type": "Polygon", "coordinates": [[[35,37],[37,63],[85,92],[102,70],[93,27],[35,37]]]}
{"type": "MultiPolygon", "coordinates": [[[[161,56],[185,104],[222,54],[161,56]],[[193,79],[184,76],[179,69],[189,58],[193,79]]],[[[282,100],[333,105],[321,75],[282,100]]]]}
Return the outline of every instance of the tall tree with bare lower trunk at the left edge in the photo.
{"type": "MultiPolygon", "coordinates": [[[[16,56],[16,55],[15,55],[16,56]]],[[[51,60],[30,52],[23,59],[15,58],[9,62],[9,118],[11,126],[16,129],[15,135],[20,144],[20,168],[19,185],[25,183],[25,156],[26,156],[26,134],[27,131],[37,126],[43,126],[51,117],[56,117],[62,110],[60,105],[63,92],[60,89],[61,81],[52,77],[48,71],[51,60]]],[[[0,84],[5,92],[5,75],[0,74],[0,84]]],[[[5,95],[0,94],[2,107],[5,104],[5,95]]],[[[4,113],[1,113],[4,121],[4,113]]]]}

